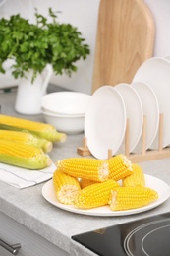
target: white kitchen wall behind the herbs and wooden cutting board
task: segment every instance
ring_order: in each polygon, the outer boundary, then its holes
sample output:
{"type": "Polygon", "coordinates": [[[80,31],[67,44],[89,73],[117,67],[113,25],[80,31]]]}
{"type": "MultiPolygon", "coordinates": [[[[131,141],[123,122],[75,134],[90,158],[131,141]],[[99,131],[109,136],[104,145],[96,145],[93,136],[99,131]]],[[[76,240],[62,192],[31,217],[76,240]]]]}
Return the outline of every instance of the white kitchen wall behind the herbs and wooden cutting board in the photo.
{"type": "MultiPolygon", "coordinates": [[[[58,19],[61,22],[71,23],[78,27],[90,45],[91,54],[85,61],[78,62],[78,72],[71,78],[66,75],[51,78],[51,83],[63,88],[79,92],[91,93],[92,70],[94,61],[95,36],[97,26],[97,13],[100,0],[6,0],[0,7],[0,16],[21,13],[24,17],[34,20],[34,8],[39,13],[48,14],[48,8],[61,11],[58,19]]],[[[156,24],[154,56],[170,55],[170,1],[145,0],[150,8],[156,24]]],[[[10,76],[0,74],[0,87],[16,84],[10,76]]]]}

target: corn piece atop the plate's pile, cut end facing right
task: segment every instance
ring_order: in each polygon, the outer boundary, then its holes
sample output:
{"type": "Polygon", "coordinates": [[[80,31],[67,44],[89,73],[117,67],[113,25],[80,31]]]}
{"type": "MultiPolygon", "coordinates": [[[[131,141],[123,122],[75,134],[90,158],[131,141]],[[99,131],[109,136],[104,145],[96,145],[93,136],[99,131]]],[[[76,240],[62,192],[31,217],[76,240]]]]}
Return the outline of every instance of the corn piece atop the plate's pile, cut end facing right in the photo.
{"type": "Polygon", "coordinates": [[[105,181],[109,175],[107,160],[68,158],[59,160],[57,166],[70,176],[94,181],[105,181]]]}

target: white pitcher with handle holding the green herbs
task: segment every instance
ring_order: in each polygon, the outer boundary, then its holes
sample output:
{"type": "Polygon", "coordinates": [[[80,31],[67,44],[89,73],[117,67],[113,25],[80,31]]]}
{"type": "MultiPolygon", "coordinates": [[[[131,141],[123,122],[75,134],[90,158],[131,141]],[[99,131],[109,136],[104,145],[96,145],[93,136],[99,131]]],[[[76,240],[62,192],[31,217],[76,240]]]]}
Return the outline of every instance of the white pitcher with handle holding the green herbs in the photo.
{"type": "Polygon", "coordinates": [[[22,114],[40,114],[41,98],[46,94],[46,89],[52,75],[51,65],[47,65],[42,74],[38,74],[31,83],[33,71],[21,78],[18,86],[15,110],[22,114]],[[45,75],[44,75],[45,74],[45,75]]]}

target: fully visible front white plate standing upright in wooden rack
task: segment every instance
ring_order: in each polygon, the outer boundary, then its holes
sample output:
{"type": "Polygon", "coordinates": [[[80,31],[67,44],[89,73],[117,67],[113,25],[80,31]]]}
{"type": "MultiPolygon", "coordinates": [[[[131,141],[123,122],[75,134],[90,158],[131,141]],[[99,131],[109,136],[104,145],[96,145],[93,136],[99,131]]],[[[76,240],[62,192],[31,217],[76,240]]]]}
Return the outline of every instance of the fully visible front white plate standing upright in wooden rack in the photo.
{"type": "Polygon", "coordinates": [[[111,86],[100,87],[91,96],[85,112],[85,137],[90,153],[107,159],[115,155],[125,135],[126,109],[122,96],[111,86]]]}

